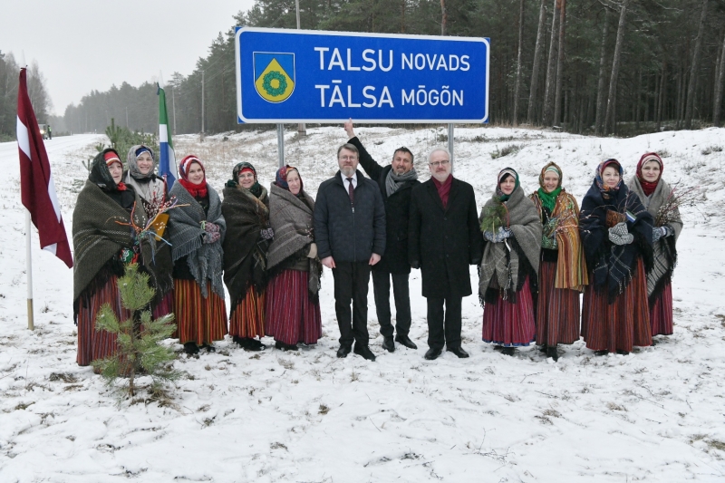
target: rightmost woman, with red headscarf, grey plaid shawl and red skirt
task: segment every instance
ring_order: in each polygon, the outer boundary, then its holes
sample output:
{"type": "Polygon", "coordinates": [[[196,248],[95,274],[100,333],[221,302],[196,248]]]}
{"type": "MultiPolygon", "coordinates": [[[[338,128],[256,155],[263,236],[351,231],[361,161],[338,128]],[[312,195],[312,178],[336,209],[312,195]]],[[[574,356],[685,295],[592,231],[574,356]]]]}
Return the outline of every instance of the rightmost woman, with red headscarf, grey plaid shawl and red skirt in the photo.
{"type": "Polygon", "coordinates": [[[644,154],[629,184],[654,218],[654,263],[647,274],[652,336],[672,334],[672,272],[677,263],[675,244],[682,231],[680,209],[672,202],[672,188],[662,179],[663,170],[662,159],[656,153],[644,154]]]}

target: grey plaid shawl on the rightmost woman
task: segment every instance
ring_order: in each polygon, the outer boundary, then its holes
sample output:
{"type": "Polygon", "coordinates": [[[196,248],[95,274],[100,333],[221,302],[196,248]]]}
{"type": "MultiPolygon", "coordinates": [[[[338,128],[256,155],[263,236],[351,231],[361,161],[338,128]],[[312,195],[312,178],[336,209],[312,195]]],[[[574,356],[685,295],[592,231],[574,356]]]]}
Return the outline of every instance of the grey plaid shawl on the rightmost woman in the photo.
{"type": "MultiPolygon", "coordinates": [[[[664,179],[660,179],[657,183],[657,188],[654,188],[651,197],[644,194],[642,184],[636,176],[630,180],[629,186],[632,187],[632,192],[640,197],[643,205],[653,218],[657,217],[657,212],[667,199],[672,196],[672,187],[664,179]]],[[[654,242],[652,270],[647,274],[647,295],[650,304],[662,294],[665,285],[672,281],[672,273],[677,265],[677,248],[675,245],[682,231],[682,219],[677,208],[675,208],[675,213],[676,219],[667,224],[674,231],[674,236],[660,238],[654,242]]]]}

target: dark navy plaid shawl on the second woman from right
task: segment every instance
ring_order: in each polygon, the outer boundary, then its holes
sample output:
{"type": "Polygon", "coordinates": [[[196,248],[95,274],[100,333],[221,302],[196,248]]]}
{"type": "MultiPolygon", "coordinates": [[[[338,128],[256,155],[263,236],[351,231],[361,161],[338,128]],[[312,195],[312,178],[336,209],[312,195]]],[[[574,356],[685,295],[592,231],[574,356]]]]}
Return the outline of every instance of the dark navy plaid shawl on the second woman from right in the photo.
{"type": "Polygon", "coordinates": [[[579,234],[586,265],[592,271],[590,280],[595,289],[607,290],[610,304],[632,280],[638,256],[643,256],[647,271],[652,269],[652,215],[624,183],[604,198],[594,179],[582,201],[579,234]],[[619,221],[626,221],[633,243],[614,245],[609,241],[608,229],[619,221]]]}

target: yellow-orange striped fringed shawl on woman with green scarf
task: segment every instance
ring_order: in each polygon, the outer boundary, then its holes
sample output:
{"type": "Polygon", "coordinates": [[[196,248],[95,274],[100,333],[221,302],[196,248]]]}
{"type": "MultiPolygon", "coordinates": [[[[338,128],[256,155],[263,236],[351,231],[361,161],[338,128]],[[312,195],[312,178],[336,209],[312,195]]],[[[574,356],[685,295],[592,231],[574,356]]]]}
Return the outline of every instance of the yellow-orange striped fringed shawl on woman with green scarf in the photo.
{"type": "MultiPolygon", "coordinates": [[[[538,192],[529,198],[534,202],[539,219],[544,222],[544,207],[538,192]]],[[[556,197],[551,218],[556,218],[556,276],[554,288],[569,288],[584,291],[589,285],[589,274],[586,271],[586,260],[582,240],[579,237],[579,205],[576,199],[562,188],[556,197]]]]}

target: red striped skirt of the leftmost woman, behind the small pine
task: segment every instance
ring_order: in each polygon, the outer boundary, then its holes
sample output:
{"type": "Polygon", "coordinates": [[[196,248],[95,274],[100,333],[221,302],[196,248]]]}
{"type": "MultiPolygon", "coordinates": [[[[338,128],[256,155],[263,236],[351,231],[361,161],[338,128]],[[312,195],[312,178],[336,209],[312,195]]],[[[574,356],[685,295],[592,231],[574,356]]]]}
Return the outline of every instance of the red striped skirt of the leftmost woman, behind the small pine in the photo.
{"type": "Polygon", "coordinates": [[[106,331],[97,331],[96,314],[101,310],[102,304],[110,304],[111,309],[120,321],[129,319],[131,311],[124,309],[121,304],[118,278],[111,276],[106,285],[96,291],[91,297],[83,300],[78,311],[78,365],[89,365],[97,359],[111,357],[118,351],[117,335],[106,331]],[[83,303],[87,306],[83,306],[83,303]]]}

